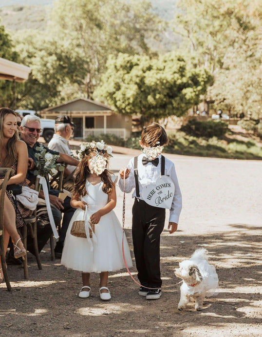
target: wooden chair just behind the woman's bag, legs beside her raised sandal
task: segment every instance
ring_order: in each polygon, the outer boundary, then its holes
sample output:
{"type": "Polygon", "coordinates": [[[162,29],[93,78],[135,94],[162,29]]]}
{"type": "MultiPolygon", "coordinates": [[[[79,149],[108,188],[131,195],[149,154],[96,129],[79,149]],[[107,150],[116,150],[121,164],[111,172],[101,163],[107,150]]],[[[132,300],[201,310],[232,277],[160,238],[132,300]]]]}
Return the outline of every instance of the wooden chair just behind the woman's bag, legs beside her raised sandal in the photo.
{"type": "MultiPolygon", "coordinates": [[[[35,190],[38,190],[38,186],[39,186],[39,178],[36,178],[35,190]]],[[[38,244],[37,244],[37,209],[35,209],[35,211],[33,212],[33,214],[31,216],[27,216],[26,218],[24,218],[24,222],[27,225],[26,226],[24,224],[24,226],[22,228],[22,235],[21,235],[24,248],[26,249],[26,246],[27,246],[27,227],[28,227],[29,233],[30,233],[31,237],[33,238],[33,242],[34,242],[35,256],[36,256],[36,259],[37,259],[37,266],[38,266],[38,269],[41,270],[42,265],[41,265],[41,260],[40,260],[40,256],[39,256],[39,252],[38,252],[38,244]]],[[[24,278],[28,279],[27,255],[25,256],[25,258],[23,260],[23,268],[24,268],[24,278]]]]}

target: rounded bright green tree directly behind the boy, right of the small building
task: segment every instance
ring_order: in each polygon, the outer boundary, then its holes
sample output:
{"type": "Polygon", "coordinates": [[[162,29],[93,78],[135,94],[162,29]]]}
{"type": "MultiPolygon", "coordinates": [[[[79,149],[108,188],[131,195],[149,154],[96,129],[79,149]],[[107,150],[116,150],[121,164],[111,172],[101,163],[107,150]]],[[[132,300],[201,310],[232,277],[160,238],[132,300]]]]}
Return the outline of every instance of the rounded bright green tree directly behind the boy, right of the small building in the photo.
{"type": "Polygon", "coordinates": [[[203,68],[190,68],[168,53],[159,58],[119,54],[107,63],[103,85],[95,91],[116,111],[141,113],[144,119],[182,116],[199,103],[211,76],[203,68]]]}

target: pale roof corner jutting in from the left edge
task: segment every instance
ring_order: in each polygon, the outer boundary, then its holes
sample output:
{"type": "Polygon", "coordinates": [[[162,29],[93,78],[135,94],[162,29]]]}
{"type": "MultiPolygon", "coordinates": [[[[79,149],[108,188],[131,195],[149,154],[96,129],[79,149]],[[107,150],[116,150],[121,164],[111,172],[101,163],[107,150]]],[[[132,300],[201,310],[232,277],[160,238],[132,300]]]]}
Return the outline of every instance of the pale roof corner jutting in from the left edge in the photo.
{"type": "Polygon", "coordinates": [[[0,80],[25,82],[30,72],[30,67],[0,57],[0,80]]]}

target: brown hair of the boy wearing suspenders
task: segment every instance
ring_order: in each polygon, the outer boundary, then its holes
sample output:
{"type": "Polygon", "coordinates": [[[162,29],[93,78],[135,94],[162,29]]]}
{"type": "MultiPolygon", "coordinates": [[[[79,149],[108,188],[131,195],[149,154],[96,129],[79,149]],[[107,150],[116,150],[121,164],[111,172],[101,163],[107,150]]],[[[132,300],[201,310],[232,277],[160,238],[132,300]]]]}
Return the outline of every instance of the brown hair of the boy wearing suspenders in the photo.
{"type": "Polygon", "coordinates": [[[168,144],[168,135],[163,126],[152,123],[142,130],[141,142],[147,147],[164,146],[168,144]]]}

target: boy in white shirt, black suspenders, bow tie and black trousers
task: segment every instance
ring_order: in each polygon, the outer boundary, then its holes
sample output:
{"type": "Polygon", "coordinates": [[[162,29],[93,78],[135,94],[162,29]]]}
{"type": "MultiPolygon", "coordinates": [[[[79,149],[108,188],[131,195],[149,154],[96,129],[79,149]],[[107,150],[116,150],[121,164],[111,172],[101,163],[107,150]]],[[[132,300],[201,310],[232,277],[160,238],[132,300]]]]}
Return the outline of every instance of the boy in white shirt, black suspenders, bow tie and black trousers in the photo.
{"type": "MultiPolygon", "coordinates": [[[[175,190],[170,208],[169,233],[177,230],[182,208],[182,197],[174,164],[161,155],[164,145],[168,144],[165,129],[153,123],[144,128],[139,141],[144,153],[130,160],[126,171],[125,190],[133,188],[134,205],[132,208],[132,238],[138,279],[143,287],[138,294],[147,299],[158,299],[161,293],[160,273],[160,234],[164,229],[166,210],[151,206],[143,200],[142,189],[154,184],[161,175],[171,178],[175,190]],[[146,154],[146,156],[145,156],[146,154]],[[154,288],[147,289],[145,287],[154,288]]],[[[124,190],[124,169],[119,171],[119,187],[124,190]]]]}

